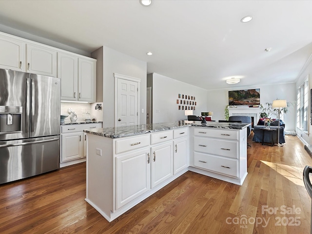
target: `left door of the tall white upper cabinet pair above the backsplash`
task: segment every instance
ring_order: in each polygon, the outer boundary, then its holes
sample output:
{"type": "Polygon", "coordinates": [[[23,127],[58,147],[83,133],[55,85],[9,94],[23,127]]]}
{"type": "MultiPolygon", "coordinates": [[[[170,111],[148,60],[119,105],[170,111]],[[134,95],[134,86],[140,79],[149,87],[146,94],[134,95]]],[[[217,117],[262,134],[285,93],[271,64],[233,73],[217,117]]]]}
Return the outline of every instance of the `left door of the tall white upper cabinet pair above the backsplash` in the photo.
{"type": "Polygon", "coordinates": [[[78,57],[58,53],[58,78],[61,79],[61,99],[76,101],[78,97],[78,57]]]}

